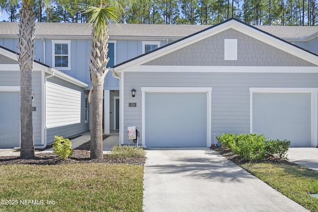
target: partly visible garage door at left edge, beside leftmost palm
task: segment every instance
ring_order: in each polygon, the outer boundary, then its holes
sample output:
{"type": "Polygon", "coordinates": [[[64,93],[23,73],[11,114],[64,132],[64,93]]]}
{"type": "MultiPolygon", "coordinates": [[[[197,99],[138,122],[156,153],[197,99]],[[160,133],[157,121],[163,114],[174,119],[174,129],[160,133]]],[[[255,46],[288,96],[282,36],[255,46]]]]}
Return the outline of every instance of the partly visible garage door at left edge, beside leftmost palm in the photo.
{"type": "Polygon", "coordinates": [[[0,148],[20,146],[20,92],[0,91],[0,148]]]}

